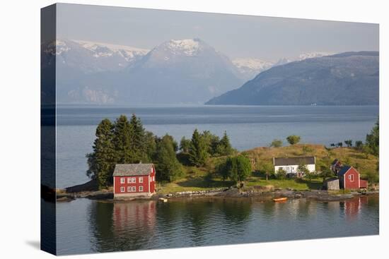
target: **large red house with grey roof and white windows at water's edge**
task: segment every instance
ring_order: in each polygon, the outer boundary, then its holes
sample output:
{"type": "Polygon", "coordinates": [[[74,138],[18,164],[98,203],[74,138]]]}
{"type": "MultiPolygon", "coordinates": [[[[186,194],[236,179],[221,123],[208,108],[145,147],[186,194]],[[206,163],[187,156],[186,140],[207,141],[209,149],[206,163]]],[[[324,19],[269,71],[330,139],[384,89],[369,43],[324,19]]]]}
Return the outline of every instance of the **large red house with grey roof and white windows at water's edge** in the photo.
{"type": "Polygon", "coordinates": [[[156,192],[153,164],[116,164],[113,171],[114,198],[151,196],[156,192]]]}

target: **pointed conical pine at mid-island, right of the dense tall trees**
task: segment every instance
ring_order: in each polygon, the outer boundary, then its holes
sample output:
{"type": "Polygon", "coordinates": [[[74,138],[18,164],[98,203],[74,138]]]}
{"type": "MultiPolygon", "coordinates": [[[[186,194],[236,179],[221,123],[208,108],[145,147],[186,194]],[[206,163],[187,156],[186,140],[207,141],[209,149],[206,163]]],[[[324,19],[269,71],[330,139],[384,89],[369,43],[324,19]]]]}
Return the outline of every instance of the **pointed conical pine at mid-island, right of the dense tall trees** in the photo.
{"type": "Polygon", "coordinates": [[[196,128],[193,132],[192,140],[190,142],[190,149],[189,149],[190,162],[196,167],[202,167],[205,164],[207,157],[208,157],[207,145],[196,128]]]}

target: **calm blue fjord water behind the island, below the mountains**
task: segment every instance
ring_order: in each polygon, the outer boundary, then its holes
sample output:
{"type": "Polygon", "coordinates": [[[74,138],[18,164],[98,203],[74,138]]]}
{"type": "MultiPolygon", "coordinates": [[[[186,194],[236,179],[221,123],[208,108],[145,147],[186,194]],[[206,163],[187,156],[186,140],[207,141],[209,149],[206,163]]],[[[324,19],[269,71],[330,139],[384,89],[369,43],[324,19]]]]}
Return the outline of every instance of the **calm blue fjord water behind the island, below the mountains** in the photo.
{"type": "Polygon", "coordinates": [[[217,135],[227,131],[238,150],[268,146],[274,138],[301,135],[303,143],[330,145],[365,140],[378,106],[182,106],[57,107],[57,188],[88,181],[86,153],[92,151],[95,128],[105,118],[137,114],[156,135],[191,138],[194,128],[217,135]]]}

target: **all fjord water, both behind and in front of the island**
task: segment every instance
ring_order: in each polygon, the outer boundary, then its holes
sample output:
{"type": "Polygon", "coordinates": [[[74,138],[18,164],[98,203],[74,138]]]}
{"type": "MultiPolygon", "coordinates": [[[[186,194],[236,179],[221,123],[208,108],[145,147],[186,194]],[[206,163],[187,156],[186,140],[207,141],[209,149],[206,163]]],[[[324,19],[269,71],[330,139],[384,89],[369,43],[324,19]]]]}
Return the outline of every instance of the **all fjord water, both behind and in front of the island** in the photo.
{"type": "MultiPolygon", "coordinates": [[[[148,131],[190,138],[194,128],[227,131],[233,147],[267,146],[301,135],[303,143],[364,140],[378,107],[73,107],[57,108],[57,187],[88,181],[95,128],[120,114],[139,116],[148,131]]],[[[286,144],[286,143],[285,143],[286,144]]],[[[341,202],[257,198],[186,198],[112,203],[57,203],[59,254],[211,246],[378,234],[378,196],[341,202]]]]}

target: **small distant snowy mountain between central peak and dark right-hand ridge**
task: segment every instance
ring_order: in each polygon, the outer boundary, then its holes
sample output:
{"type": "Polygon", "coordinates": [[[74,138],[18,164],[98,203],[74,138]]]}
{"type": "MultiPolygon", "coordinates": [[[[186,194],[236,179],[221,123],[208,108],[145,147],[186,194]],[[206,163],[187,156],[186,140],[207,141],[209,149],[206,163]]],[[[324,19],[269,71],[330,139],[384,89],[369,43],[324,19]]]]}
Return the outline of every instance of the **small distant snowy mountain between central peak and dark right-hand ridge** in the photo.
{"type": "Polygon", "coordinates": [[[257,76],[257,74],[271,68],[274,64],[262,59],[233,59],[233,64],[238,68],[238,71],[242,74],[245,80],[250,80],[257,76]]]}

